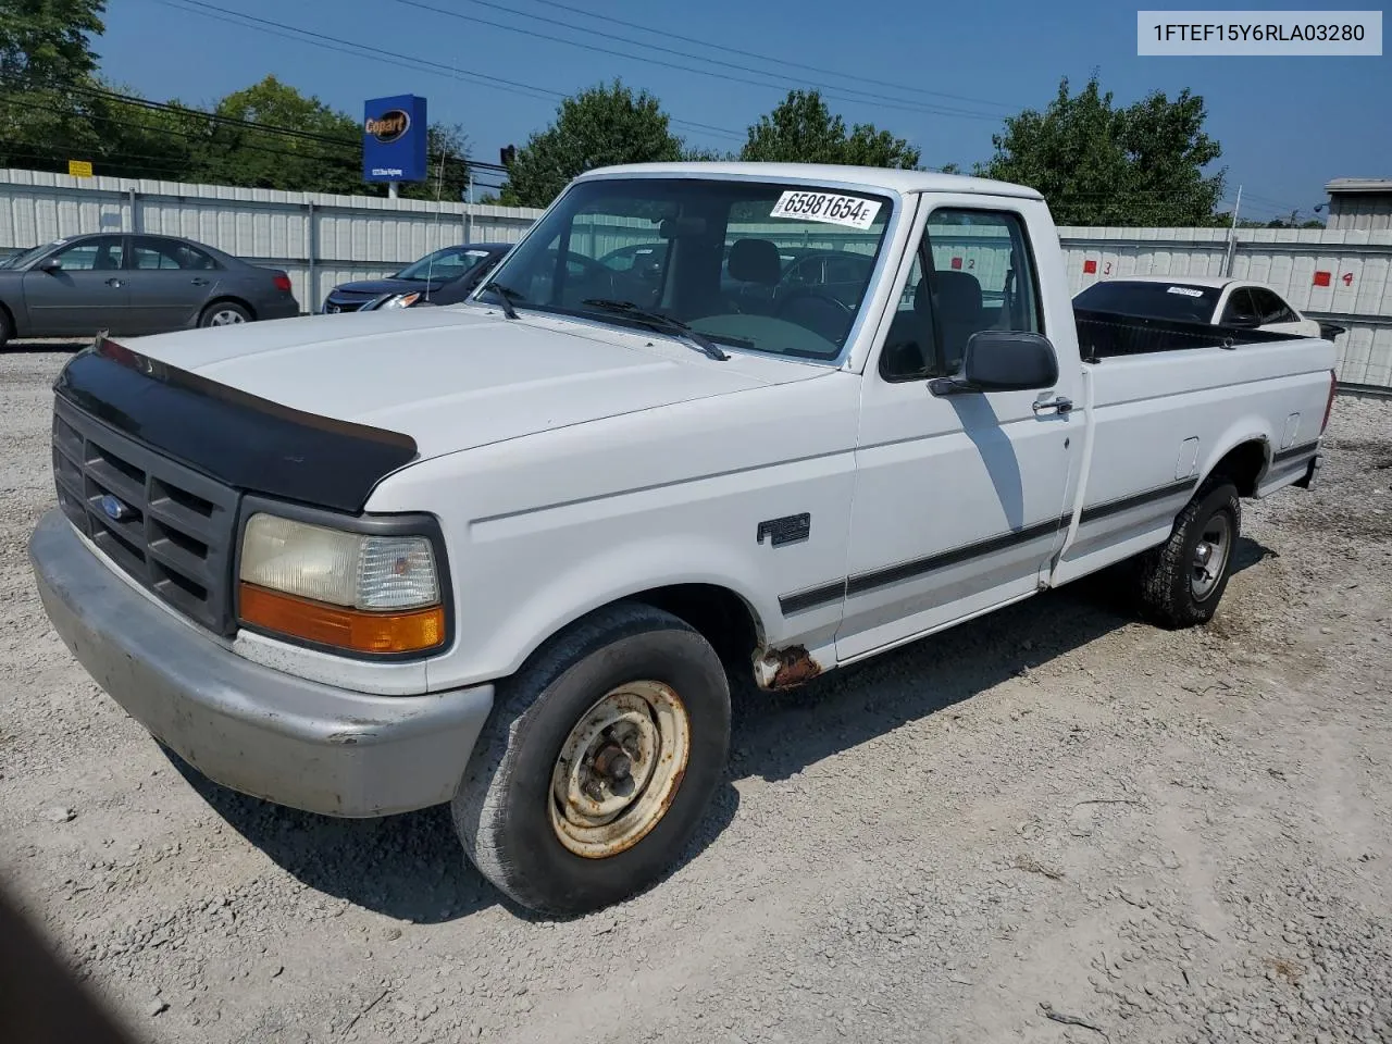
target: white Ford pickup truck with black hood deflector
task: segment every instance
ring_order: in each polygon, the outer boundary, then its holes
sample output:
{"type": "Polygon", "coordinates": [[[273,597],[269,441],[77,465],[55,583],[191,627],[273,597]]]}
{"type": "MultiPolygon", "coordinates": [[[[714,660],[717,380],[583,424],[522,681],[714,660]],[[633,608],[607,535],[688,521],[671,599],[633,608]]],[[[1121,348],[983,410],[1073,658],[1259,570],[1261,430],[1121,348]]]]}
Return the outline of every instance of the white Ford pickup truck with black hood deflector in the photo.
{"type": "Polygon", "coordinates": [[[1122,560],[1157,622],[1208,619],[1240,498],[1315,473],[1334,361],[1075,313],[1029,188],[614,167],[459,305],[97,338],[31,560],[212,780],[452,802],[490,881],[574,913],[692,837],[729,671],[796,685],[1122,560]],[[628,245],[656,260],[600,263],[628,245]]]}

